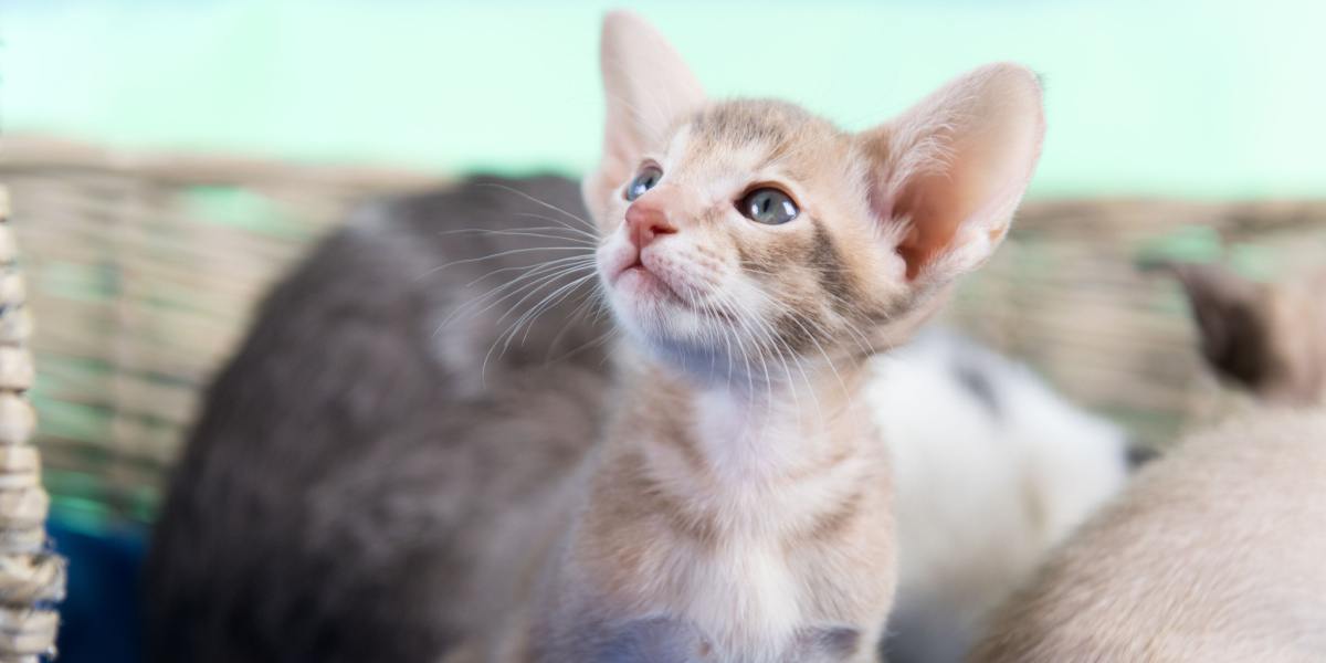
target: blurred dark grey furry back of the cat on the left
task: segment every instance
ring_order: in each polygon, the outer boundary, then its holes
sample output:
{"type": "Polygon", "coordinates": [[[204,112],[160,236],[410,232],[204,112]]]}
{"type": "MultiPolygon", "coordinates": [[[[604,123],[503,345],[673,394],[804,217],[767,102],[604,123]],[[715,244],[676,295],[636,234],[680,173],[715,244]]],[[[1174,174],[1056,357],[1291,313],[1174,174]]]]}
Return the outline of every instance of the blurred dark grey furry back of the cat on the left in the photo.
{"type": "Polygon", "coordinates": [[[386,199],[272,290],[154,534],[159,660],[430,660],[485,617],[455,601],[479,593],[475,542],[540,512],[595,438],[593,280],[538,267],[590,255],[577,216],[561,178],[386,199]],[[505,346],[504,313],[564,286],[505,346]]]}

